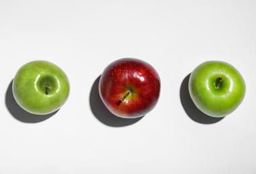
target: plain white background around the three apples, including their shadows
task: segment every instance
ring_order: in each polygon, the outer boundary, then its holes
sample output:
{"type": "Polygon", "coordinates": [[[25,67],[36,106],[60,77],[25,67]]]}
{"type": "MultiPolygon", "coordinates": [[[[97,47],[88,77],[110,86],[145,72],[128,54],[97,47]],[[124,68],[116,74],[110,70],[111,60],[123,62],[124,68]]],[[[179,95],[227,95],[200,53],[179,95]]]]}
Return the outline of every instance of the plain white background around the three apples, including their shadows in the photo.
{"type": "Polygon", "coordinates": [[[256,173],[256,1],[0,0],[0,173],[256,173]],[[159,73],[157,106],[141,119],[104,108],[97,83],[119,58],[159,73]],[[17,107],[11,81],[32,60],[66,72],[58,112],[17,107]],[[222,60],[247,84],[229,116],[210,118],[188,96],[188,74],[222,60]]]}

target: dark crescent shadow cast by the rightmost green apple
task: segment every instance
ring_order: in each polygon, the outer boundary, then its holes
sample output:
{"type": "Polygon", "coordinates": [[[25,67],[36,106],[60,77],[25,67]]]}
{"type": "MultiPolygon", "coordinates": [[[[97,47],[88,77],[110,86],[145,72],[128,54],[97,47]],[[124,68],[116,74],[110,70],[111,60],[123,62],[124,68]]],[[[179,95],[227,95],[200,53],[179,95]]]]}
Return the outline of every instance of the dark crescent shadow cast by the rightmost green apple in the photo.
{"type": "Polygon", "coordinates": [[[184,78],[184,80],[182,81],[182,85],[180,87],[180,100],[182,102],[182,106],[186,114],[188,114],[188,116],[195,122],[199,122],[202,124],[213,124],[219,122],[224,117],[216,118],[208,116],[207,114],[204,114],[198,108],[196,108],[196,105],[192,101],[188,91],[188,81],[190,79],[190,74],[188,74],[188,76],[184,78]]]}

